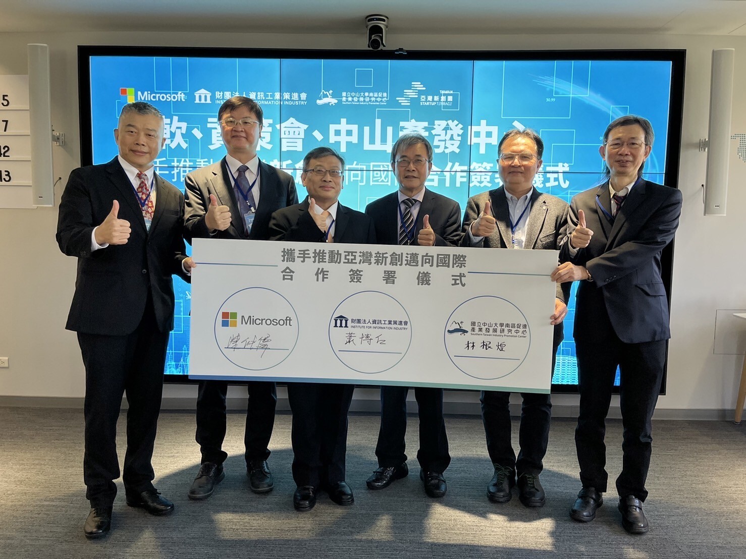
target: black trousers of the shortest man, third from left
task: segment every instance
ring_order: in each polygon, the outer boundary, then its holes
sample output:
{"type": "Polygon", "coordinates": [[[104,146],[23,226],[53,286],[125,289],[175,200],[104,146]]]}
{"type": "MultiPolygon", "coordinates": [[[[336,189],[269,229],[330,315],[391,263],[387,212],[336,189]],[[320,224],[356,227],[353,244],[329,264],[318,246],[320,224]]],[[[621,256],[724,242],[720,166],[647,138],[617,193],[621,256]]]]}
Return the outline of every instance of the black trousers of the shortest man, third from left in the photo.
{"type": "Polygon", "coordinates": [[[289,382],[292,479],[320,487],[345,481],[347,414],[354,385],[289,382]]]}

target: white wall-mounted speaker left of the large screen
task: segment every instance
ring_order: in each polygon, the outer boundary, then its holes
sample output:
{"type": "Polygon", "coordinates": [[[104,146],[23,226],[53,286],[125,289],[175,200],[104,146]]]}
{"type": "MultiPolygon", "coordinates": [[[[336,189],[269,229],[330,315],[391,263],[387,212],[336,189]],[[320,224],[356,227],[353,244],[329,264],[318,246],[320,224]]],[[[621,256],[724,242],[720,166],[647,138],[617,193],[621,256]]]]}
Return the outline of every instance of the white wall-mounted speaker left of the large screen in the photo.
{"type": "Polygon", "coordinates": [[[28,116],[31,124],[32,203],[35,206],[54,206],[51,87],[47,45],[28,45],[28,116]]]}

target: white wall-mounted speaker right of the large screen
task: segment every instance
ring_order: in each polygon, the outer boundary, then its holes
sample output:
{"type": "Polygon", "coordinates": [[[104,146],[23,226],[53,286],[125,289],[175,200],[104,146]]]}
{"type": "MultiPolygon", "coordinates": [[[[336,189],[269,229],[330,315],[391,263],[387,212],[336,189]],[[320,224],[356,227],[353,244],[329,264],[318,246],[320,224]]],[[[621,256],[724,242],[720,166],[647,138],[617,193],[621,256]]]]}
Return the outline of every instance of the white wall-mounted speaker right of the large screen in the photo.
{"type": "Polygon", "coordinates": [[[725,215],[730,160],[730,115],[733,105],[733,48],[712,51],[709,86],[709,133],[704,215],[725,215]]]}

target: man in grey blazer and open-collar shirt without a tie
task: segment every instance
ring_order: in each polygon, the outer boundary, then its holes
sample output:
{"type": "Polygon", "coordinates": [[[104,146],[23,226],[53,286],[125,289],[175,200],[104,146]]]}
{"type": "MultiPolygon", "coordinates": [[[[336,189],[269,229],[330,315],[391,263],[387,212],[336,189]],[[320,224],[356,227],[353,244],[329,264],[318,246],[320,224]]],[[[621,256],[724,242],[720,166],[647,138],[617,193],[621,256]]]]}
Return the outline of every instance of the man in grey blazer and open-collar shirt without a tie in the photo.
{"type": "MultiPolygon", "coordinates": [[[[533,130],[509,130],[498,144],[498,165],[504,186],[469,198],[464,217],[465,247],[560,250],[567,230],[568,204],[533,188],[542,166],[544,142],[533,130]]],[[[564,333],[570,284],[557,284],[551,378],[557,347],[564,333]]],[[[521,393],[518,460],[510,443],[510,392],[482,391],[482,420],[487,450],[495,473],[487,485],[492,502],[508,502],[518,477],[518,498],[527,507],[546,502],[539,474],[547,452],[552,404],[549,394],[521,393]]]]}

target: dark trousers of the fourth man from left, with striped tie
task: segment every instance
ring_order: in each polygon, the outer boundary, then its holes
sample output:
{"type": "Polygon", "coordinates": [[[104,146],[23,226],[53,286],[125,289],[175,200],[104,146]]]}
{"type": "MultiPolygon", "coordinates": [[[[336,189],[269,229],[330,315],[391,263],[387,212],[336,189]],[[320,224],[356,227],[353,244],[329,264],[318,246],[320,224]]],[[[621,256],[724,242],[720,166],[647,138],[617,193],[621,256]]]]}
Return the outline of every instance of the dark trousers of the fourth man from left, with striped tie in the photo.
{"type": "MultiPolygon", "coordinates": [[[[380,388],[380,431],[375,449],[380,467],[398,466],[407,461],[404,449],[409,390],[406,386],[380,388]]],[[[426,472],[443,473],[451,464],[443,419],[443,389],[416,387],[414,391],[419,413],[417,461],[426,472]]]]}

